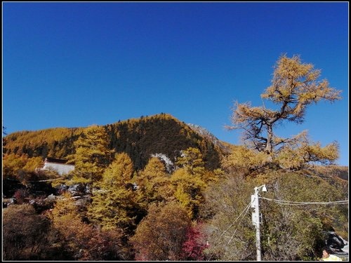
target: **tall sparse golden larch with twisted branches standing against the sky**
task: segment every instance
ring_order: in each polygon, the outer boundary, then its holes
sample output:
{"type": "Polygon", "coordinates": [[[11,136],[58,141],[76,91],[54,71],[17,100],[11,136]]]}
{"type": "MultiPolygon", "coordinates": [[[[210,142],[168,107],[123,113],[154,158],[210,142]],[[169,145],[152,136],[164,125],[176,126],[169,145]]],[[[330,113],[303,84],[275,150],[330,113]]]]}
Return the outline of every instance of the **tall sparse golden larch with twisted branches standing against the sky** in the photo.
{"type": "Polygon", "coordinates": [[[309,142],[306,133],[291,138],[278,137],[274,129],[284,122],[303,123],[305,111],[310,104],[321,100],[340,100],[340,90],[331,88],[326,79],[319,80],[321,71],[314,65],[303,63],[298,55],[288,58],[282,55],[274,67],[272,85],[261,94],[277,109],[265,105],[251,107],[251,103],[235,103],[232,113],[233,126],[229,129],[243,129],[244,141],[256,151],[267,154],[267,163],[279,161],[282,168],[299,169],[306,163],[329,163],[338,158],[338,144],[332,142],[326,147],[309,142]],[[281,154],[279,159],[276,157],[281,154]],[[296,159],[298,154],[298,159],[296,159]],[[295,163],[289,166],[290,159],[295,163]]]}

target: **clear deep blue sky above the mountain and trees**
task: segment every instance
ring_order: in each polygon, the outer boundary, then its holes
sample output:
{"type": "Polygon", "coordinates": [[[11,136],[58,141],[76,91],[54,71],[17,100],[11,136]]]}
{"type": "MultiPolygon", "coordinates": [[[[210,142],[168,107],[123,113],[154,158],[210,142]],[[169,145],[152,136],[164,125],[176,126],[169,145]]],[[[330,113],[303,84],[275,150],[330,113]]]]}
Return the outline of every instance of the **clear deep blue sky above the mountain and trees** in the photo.
{"type": "Polygon", "coordinates": [[[6,133],[105,125],[161,112],[240,143],[232,106],[261,106],[280,55],[300,55],[343,100],[307,108],[348,166],[348,2],[2,2],[6,133]]]}

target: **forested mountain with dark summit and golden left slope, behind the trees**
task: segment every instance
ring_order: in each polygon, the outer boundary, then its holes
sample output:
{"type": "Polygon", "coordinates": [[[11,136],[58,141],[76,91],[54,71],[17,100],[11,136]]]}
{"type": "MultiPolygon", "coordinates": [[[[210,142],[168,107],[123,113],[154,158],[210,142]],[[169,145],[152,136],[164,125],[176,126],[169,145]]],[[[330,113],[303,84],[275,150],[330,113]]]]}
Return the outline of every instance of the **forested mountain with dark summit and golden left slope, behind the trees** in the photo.
{"type": "MultiPolygon", "coordinates": [[[[185,124],[170,114],[141,116],[103,126],[110,137],[110,149],[126,152],[135,169],[145,167],[152,155],[161,154],[175,161],[181,151],[189,147],[201,150],[205,167],[220,167],[220,158],[228,151],[228,144],[220,142],[206,129],[185,124]]],[[[37,131],[20,131],[4,137],[4,154],[27,154],[66,159],[74,154],[74,141],[85,128],[50,128],[37,131]]]]}

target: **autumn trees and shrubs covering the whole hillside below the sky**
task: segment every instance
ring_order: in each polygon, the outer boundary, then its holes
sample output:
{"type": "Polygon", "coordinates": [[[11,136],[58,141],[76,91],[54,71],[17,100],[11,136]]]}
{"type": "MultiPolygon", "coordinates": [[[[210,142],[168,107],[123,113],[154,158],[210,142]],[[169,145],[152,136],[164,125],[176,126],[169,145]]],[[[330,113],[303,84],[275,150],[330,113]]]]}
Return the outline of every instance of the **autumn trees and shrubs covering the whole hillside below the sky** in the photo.
{"type": "MultiPolygon", "coordinates": [[[[4,213],[5,258],[253,260],[256,248],[251,213],[241,219],[240,227],[227,228],[245,210],[255,186],[264,183],[269,189],[265,197],[289,201],[327,202],[348,197],[347,167],[315,166],[294,173],[270,169],[245,175],[246,168],[232,163],[232,156],[238,156],[241,150],[214,137],[204,137],[199,127],[191,128],[168,114],[106,126],[7,135],[3,186],[6,198],[15,196],[15,204],[8,205],[4,213]],[[101,151],[111,156],[105,164],[95,163],[101,167],[94,180],[82,181],[77,173],[59,177],[52,172],[34,172],[47,156],[69,159],[81,171],[91,171],[93,166],[86,168],[79,157],[83,152],[93,160],[88,150],[91,145],[84,147],[89,135],[96,136],[95,142],[105,136],[103,144],[107,149],[101,151]],[[172,160],[171,169],[166,168],[164,159],[153,155],[157,153],[172,160]],[[228,166],[228,162],[232,164],[228,166]],[[126,188],[131,183],[138,189],[126,188]],[[77,191],[67,191],[69,185],[77,191]],[[88,185],[100,190],[86,191],[88,185]],[[50,194],[55,198],[48,199],[50,194]],[[76,197],[70,199],[72,195],[76,197]],[[90,197],[83,197],[87,195],[90,197]],[[77,198],[80,201],[74,201],[77,198]],[[49,209],[52,213],[48,213],[49,209]],[[70,212],[62,214],[62,209],[70,212]],[[163,217],[157,216],[162,213],[163,217]],[[10,224],[15,217],[24,215],[23,224],[10,224]],[[167,243],[160,241],[153,247],[154,241],[149,241],[159,236],[152,229],[168,236],[167,243]],[[8,232],[13,230],[22,237],[8,232]],[[19,242],[18,238],[21,246],[15,248],[13,242],[19,242]],[[241,247],[239,240],[245,240],[246,246],[241,247]],[[113,245],[115,241],[118,245],[113,245]],[[98,250],[102,243],[103,252],[98,250]],[[227,243],[225,250],[223,243],[227,243]],[[161,254],[157,252],[160,245],[164,247],[161,254]]],[[[330,229],[347,239],[345,205],[329,207],[326,213],[325,205],[310,205],[306,210],[261,202],[265,259],[319,257],[325,233],[330,229]],[[295,217],[300,221],[293,220],[295,217]],[[282,253],[288,241],[296,252],[282,253]]]]}

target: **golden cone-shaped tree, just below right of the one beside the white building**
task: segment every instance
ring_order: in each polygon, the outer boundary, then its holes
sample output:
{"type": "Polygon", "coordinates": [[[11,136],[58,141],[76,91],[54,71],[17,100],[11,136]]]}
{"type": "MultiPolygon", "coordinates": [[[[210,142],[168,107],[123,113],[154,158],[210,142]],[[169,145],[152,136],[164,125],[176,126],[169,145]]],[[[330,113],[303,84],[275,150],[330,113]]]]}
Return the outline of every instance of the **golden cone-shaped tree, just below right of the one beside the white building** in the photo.
{"type": "Polygon", "coordinates": [[[143,217],[139,205],[138,191],[127,187],[133,175],[133,162],[126,153],[117,154],[111,165],[95,183],[93,202],[88,208],[88,218],[103,230],[124,229],[132,231],[136,222],[143,217]]]}

